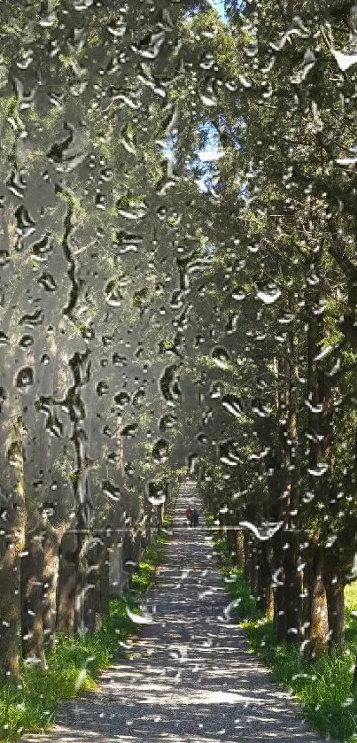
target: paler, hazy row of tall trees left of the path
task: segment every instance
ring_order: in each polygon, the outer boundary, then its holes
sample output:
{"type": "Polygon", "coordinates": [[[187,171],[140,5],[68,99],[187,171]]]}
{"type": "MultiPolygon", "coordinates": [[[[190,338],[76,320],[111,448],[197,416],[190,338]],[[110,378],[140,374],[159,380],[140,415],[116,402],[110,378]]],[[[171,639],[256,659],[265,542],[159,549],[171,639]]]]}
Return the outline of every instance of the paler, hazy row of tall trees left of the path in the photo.
{"type": "Polygon", "coordinates": [[[3,677],[96,629],[184,461],[202,239],[167,150],[190,3],[171,5],[1,7],[3,677]]]}

